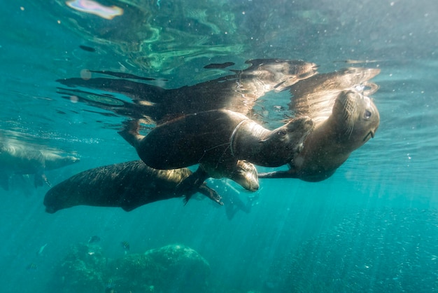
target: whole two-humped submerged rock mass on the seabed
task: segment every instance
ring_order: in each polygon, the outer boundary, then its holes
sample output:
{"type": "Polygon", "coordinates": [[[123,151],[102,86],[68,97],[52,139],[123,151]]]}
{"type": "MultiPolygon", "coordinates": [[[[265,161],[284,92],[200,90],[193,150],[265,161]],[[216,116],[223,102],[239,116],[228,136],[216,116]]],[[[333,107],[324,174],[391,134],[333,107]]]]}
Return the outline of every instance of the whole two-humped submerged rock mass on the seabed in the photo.
{"type": "Polygon", "coordinates": [[[99,245],[71,247],[48,292],[206,292],[209,263],[195,250],[167,245],[108,261],[99,245]]]}

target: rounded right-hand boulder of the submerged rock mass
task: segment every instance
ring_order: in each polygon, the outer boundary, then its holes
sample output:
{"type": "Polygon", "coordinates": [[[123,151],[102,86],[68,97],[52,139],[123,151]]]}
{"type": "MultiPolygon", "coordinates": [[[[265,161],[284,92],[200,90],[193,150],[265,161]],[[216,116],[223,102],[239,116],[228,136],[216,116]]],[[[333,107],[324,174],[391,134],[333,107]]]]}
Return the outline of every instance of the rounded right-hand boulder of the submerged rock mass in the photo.
{"type": "Polygon", "coordinates": [[[195,250],[167,245],[111,262],[108,278],[118,292],[205,292],[209,273],[209,263],[195,250]]]}

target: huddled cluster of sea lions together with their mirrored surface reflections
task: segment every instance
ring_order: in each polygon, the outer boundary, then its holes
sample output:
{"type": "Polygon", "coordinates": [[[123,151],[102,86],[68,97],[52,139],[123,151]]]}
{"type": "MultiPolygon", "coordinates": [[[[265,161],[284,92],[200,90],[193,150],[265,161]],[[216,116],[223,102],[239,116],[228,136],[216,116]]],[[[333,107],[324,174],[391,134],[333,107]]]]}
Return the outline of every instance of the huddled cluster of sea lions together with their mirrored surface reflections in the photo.
{"type": "MultiPolygon", "coordinates": [[[[156,200],[202,193],[217,203],[221,197],[205,180],[229,178],[248,191],[258,178],[298,178],[317,182],[330,177],[352,151],[379,126],[379,111],[368,97],[377,86],[369,79],[379,69],[348,68],[319,74],[316,64],[297,60],[249,60],[213,81],[165,89],[144,78],[109,74],[111,78],[64,79],[75,95],[115,114],[129,117],[119,134],[141,161],[87,170],[54,186],[45,196],[47,212],[74,205],[133,210],[156,200]],[[120,79],[122,77],[122,79],[120,79]],[[132,102],[74,87],[122,93],[132,102]],[[257,100],[270,91],[288,90],[288,118],[274,130],[257,121],[257,100]],[[155,124],[141,135],[141,123],[155,124]],[[195,172],[188,167],[198,165],[195,172]],[[287,171],[257,175],[255,165],[287,171]]],[[[211,67],[209,67],[211,68],[211,67]]],[[[153,80],[153,79],[148,79],[153,80]]]]}

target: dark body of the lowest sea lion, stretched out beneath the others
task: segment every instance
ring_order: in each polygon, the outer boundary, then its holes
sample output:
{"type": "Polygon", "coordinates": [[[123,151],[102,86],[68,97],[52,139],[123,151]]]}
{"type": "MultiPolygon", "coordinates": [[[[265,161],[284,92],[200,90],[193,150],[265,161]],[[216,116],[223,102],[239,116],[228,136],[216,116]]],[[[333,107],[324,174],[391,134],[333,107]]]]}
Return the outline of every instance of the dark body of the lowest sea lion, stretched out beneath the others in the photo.
{"type": "MultiPolygon", "coordinates": [[[[45,210],[52,214],[76,205],[92,205],[122,207],[129,212],[157,200],[183,196],[175,187],[191,174],[188,168],[156,170],[143,161],[94,168],[53,186],[45,194],[45,210]]],[[[218,193],[206,184],[198,186],[196,192],[222,205],[218,193]]]]}

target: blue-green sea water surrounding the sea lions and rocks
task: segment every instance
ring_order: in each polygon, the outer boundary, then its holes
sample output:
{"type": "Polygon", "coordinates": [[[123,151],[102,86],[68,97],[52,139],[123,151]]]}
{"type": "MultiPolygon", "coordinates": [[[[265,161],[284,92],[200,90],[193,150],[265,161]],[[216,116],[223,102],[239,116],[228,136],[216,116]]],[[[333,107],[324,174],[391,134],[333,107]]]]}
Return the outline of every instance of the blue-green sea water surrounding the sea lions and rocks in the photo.
{"type": "MultiPolygon", "coordinates": [[[[45,292],[69,245],[92,235],[108,257],[122,256],[122,240],[133,253],[188,245],[209,261],[216,292],[438,291],[436,1],[101,3],[125,14],[104,20],[64,1],[1,1],[1,135],[80,156],[47,172],[53,184],[137,158],[116,133],[122,117],[56,93],[57,79],[82,69],[123,69],[173,88],[216,78],[202,69],[212,62],[302,59],[329,72],[346,66],[340,60],[373,60],[381,125],[324,182],[261,180],[259,205],[232,221],[208,200],[47,214],[48,187],[1,190],[1,292],[45,292]]],[[[223,182],[211,184],[221,191],[223,182]]]]}

